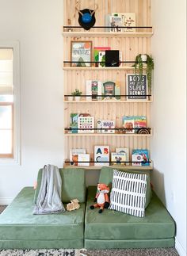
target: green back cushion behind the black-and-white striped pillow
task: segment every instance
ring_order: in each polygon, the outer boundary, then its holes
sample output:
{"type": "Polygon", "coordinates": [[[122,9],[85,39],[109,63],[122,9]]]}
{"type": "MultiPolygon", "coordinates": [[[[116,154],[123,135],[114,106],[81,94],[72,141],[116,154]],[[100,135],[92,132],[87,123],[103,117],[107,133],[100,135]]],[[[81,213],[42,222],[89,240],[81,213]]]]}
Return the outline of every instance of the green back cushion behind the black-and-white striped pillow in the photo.
{"type": "Polygon", "coordinates": [[[125,172],[133,173],[133,174],[147,174],[147,190],[146,190],[146,205],[145,205],[145,208],[147,208],[148,204],[151,201],[151,197],[152,197],[150,173],[147,170],[141,170],[141,172],[139,172],[139,170],[126,170],[126,169],[123,169],[122,167],[117,168],[116,166],[111,166],[111,167],[103,166],[101,168],[99,183],[105,183],[107,185],[112,186],[113,170],[120,170],[120,171],[125,171],[125,172]]]}

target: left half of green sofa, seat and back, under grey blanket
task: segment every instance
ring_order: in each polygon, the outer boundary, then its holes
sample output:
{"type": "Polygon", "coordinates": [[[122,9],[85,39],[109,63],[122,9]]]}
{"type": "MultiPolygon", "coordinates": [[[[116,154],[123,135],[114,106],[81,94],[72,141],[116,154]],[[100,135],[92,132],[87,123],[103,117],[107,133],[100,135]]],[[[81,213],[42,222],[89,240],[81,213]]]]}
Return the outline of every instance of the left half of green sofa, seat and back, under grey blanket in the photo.
{"type": "MultiPolygon", "coordinates": [[[[83,248],[86,207],[85,171],[60,169],[64,206],[78,198],[81,207],[72,212],[32,215],[35,191],[25,187],[0,215],[0,248],[83,248]]],[[[40,187],[41,170],[38,174],[40,187]]],[[[36,190],[36,193],[38,191],[36,190]]]]}

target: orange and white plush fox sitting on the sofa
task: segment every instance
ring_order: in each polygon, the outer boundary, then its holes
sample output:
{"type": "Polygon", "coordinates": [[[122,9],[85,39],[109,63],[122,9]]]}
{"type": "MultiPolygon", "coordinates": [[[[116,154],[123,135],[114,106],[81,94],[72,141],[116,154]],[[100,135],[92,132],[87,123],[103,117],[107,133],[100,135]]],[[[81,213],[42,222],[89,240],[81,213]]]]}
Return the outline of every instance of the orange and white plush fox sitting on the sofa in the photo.
{"type": "Polygon", "coordinates": [[[99,213],[103,211],[104,208],[109,208],[109,186],[105,184],[97,184],[98,193],[95,197],[95,202],[97,204],[90,205],[90,209],[93,210],[94,208],[100,207],[99,213]]]}

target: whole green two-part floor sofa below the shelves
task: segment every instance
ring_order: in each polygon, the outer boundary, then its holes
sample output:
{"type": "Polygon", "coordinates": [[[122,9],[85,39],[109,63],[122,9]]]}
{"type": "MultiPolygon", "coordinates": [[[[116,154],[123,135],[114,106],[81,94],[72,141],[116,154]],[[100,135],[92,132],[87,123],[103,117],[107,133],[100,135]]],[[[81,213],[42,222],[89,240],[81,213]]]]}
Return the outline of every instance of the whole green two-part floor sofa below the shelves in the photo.
{"type": "MultiPolygon", "coordinates": [[[[93,204],[96,186],[87,189],[83,169],[60,169],[62,201],[78,198],[81,207],[72,212],[33,216],[34,189],[21,190],[0,215],[0,248],[151,248],[174,246],[175,224],[155,193],[147,197],[146,216],[130,216],[93,204]],[[149,203],[150,201],[150,203],[149,203]],[[149,203],[149,204],[148,204],[149,203]]],[[[102,167],[100,182],[110,183],[113,168],[102,167]]],[[[40,187],[41,171],[38,174],[40,187]]],[[[37,194],[37,190],[36,190],[37,194]]]]}

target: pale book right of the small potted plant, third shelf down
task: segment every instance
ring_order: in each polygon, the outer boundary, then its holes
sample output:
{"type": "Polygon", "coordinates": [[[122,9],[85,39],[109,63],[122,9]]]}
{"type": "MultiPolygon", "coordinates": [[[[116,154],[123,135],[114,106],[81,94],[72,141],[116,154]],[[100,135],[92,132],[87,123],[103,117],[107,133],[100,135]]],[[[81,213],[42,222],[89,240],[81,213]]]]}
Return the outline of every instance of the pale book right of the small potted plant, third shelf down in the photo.
{"type": "Polygon", "coordinates": [[[86,101],[101,101],[101,96],[97,97],[97,95],[101,95],[101,91],[101,81],[86,80],[86,95],[91,95],[90,97],[86,97],[86,101]]]}

